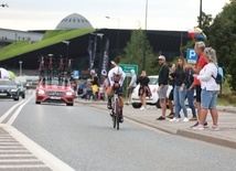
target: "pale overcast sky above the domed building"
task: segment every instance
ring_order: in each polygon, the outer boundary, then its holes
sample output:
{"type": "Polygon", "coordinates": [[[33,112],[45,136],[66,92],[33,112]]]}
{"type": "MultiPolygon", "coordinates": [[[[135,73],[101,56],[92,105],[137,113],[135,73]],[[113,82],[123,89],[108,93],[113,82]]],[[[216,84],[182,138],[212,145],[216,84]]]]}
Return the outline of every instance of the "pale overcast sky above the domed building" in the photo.
{"type": "MultiPolygon", "coordinates": [[[[229,0],[202,2],[203,12],[215,18],[229,0]]],[[[22,31],[54,30],[72,13],[85,17],[95,29],[186,31],[197,25],[200,15],[200,0],[1,0],[2,3],[9,8],[0,7],[0,28],[22,31]]]]}

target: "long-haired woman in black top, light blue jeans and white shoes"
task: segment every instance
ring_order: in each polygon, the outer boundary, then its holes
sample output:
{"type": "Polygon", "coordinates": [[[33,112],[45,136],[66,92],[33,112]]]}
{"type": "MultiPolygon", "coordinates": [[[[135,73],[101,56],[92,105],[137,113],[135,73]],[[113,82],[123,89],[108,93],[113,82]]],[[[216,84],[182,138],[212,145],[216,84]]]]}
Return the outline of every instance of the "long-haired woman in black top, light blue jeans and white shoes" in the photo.
{"type": "Polygon", "coordinates": [[[178,58],[178,66],[174,73],[171,74],[175,78],[174,86],[174,118],[170,121],[179,121],[179,114],[181,108],[183,109],[184,119],[183,121],[189,121],[186,106],[184,100],[186,98],[186,81],[187,81],[187,70],[186,62],[184,57],[178,58]]]}

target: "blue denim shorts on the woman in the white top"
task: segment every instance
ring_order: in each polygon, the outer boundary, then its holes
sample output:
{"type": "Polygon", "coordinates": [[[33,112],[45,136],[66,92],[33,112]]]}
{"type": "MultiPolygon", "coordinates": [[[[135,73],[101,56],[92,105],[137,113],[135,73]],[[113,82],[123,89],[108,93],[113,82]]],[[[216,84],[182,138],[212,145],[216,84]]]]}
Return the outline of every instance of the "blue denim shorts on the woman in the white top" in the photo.
{"type": "Polygon", "coordinates": [[[216,108],[216,99],[217,99],[218,90],[206,90],[202,89],[201,93],[201,108],[216,108]]]}

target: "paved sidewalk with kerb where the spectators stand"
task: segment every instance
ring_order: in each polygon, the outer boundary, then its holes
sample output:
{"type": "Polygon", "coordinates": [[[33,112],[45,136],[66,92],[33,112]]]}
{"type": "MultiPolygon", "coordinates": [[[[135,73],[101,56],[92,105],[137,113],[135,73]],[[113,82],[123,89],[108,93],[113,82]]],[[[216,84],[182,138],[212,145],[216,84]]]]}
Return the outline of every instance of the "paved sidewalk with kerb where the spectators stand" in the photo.
{"type": "MultiPolygon", "coordinates": [[[[84,99],[76,99],[76,103],[108,110],[106,101],[85,101],[84,99]]],[[[171,122],[169,121],[169,118],[162,121],[155,120],[155,118],[161,115],[161,109],[158,109],[155,106],[148,106],[148,110],[135,109],[131,105],[125,105],[124,107],[125,121],[126,118],[128,118],[168,133],[236,149],[236,107],[217,106],[219,114],[219,131],[212,131],[210,128],[205,128],[204,130],[193,130],[190,127],[194,125],[195,121],[183,122],[182,119],[180,119],[179,122],[171,122]]],[[[168,110],[167,114],[169,114],[169,111],[170,110],[168,110]]],[[[181,116],[183,117],[183,114],[181,114],[181,116]]],[[[189,118],[190,117],[192,117],[191,113],[189,113],[189,118]]],[[[210,113],[207,122],[208,127],[211,127],[212,118],[210,113]]]]}

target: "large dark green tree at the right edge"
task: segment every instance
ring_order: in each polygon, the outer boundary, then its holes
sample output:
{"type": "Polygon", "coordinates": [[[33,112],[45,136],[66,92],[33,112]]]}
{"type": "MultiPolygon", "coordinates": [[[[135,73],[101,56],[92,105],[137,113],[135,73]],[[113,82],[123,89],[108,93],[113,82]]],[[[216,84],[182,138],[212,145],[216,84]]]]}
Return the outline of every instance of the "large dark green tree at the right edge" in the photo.
{"type": "Polygon", "coordinates": [[[219,66],[229,74],[229,86],[236,92],[236,0],[223,8],[208,30],[210,45],[217,52],[219,66]]]}

